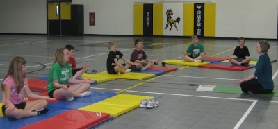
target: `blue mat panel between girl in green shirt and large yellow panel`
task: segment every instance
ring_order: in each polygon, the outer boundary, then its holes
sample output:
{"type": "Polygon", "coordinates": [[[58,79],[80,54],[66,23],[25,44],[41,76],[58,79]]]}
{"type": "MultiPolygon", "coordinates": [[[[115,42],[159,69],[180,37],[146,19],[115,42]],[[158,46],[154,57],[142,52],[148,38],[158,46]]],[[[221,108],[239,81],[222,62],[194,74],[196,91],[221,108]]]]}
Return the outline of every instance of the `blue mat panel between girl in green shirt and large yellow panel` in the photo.
{"type": "Polygon", "coordinates": [[[99,101],[103,101],[106,98],[110,98],[112,96],[117,95],[116,93],[112,92],[97,92],[92,91],[92,94],[90,96],[85,96],[81,98],[74,98],[73,101],[57,101],[54,103],[49,103],[48,105],[51,107],[60,107],[65,109],[72,109],[77,110],[81,107],[85,107],[87,105],[90,105],[92,103],[97,103],[99,101]]]}

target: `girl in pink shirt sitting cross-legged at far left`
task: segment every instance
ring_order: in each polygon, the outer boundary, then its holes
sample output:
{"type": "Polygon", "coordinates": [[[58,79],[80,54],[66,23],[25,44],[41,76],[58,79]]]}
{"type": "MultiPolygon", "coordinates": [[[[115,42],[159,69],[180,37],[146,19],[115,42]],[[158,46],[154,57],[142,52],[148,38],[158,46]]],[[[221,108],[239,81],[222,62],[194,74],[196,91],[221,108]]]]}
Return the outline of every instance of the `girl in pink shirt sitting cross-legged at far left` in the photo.
{"type": "Polygon", "coordinates": [[[46,100],[55,100],[49,96],[34,94],[28,87],[26,78],[26,60],[15,57],[10,61],[8,73],[6,74],[1,88],[3,90],[2,112],[7,117],[22,119],[24,117],[36,116],[48,112],[46,100]],[[30,98],[39,100],[23,102],[23,93],[30,98]]]}

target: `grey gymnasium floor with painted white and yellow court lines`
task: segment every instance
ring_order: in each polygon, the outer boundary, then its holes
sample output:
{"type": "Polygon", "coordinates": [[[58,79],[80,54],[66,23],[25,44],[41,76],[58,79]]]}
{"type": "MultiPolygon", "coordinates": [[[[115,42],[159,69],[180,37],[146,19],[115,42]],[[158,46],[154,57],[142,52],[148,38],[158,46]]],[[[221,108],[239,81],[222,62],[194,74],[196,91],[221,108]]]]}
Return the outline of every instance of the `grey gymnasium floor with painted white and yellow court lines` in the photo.
{"type": "MultiPolygon", "coordinates": [[[[117,48],[130,58],[133,42],[137,37],[48,37],[46,35],[0,35],[0,83],[14,56],[27,60],[28,78],[48,76],[57,48],[72,44],[76,48],[76,62],[88,62],[92,69],[106,71],[108,42],[117,42],[117,48]]],[[[181,51],[190,44],[189,38],[140,37],[149,58],[170,60],[179,59],[181,51]]],[[[246,40],[250,58],[259,58],[256,43],[259,40],[246,40]]],[[[238,46],[238,40],[199,39],[204,44],[207,56],[225,58],[238,46]]],[[[277,60],[277,41],[269,40],[268,54],[277,60]]],[[[161,62],[160,64],[161,65],[161,62]]],[[[254,72],[225,71],[181,65],[178,71],[146,80],[113,80],[92,85],[92,90],[121,92],[158,98],[160,105],[153,109],[137,108],[115,118],[99,128],[278,128],[278,98],[247,94],[224,94],[197,92],[199,85],[222,85],[239,87],[236,83],[254,72]]],[[[277,89],[278,63],[272,63],[272,75],[277,89]]],[[[2,99],[3,92],[0,92],[2,99]]]]}

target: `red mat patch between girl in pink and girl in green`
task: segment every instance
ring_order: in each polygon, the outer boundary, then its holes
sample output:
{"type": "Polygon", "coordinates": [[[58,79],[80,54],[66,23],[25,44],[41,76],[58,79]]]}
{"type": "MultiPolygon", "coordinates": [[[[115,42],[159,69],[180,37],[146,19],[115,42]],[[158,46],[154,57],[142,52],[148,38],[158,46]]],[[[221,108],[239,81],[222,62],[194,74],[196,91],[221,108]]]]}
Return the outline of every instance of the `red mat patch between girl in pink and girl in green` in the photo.
{"type": "Polygon", "coordinates": [[[30,89],[47,92],[47,80],[28,79],[30,89]]]}

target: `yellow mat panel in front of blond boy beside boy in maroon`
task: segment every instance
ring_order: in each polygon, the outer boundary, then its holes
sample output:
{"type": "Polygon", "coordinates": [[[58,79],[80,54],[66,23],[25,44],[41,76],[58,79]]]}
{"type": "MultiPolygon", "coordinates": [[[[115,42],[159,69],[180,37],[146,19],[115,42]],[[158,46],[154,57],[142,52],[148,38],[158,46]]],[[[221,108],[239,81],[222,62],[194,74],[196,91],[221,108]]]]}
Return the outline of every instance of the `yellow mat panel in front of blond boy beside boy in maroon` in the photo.
{"type": "Polygon", "coordinates": [[[117,75],[117,74],[108,74],[107,71],[101,72],[99,73],[99,75],[112,76],[118,79],[131,79],[131,80],[144,80],[156,76],[155,74],[133,73],[133,72],[117,75]]]}

